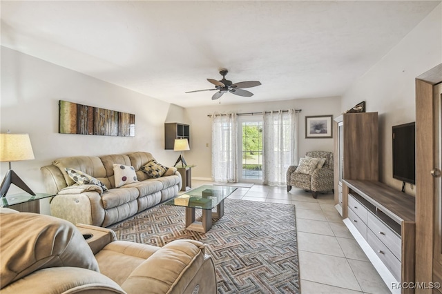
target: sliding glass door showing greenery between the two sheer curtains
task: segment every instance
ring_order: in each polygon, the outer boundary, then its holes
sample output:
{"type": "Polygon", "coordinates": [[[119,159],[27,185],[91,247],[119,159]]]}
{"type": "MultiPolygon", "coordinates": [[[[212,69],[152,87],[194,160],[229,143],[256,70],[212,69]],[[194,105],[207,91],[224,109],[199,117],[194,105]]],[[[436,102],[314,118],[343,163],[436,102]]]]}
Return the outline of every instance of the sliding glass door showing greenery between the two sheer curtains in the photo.
{"type": "Polygon", "coordinates": [[[262,116],[238,117],[239,182],[262,184],[262,116]]]}

